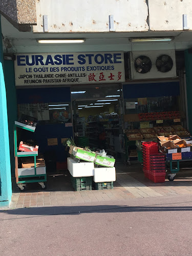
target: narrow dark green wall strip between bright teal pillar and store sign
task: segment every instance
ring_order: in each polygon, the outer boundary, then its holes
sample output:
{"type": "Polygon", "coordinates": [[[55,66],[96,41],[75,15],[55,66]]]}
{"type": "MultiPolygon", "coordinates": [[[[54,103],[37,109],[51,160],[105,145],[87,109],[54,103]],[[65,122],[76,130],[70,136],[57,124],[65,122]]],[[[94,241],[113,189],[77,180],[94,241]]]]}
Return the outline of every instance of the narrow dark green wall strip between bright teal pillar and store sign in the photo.
{"type": "Polygon", "coordinates": [[[17,120],[17,103],[16,103],[16,88],[14,77],[14,62],[12,60],[4,60],[4,77],[7,95],[7,114],[9,127],[9,146],[10,146],[10,160],[11,160],[11,174],[15,174],[15,160],[14,160],[14,136],[13,125],[17,120]]]}

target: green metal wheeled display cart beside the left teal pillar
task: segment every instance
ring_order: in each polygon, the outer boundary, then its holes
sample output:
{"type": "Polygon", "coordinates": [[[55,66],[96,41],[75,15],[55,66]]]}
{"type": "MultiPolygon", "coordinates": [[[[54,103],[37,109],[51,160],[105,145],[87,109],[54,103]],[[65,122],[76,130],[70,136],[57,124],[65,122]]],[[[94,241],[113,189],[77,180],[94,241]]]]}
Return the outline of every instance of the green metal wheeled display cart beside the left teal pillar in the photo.
{"type": "Polygon", "coordinates": [[[17,127],[30,132],[35,131],[35,127],[15,121],[14,124],[14,153],[15,153],[15,178],[17,186],[20,190],[26,189],[26,183],[37,182],[42,189],[46,188],[45,182],[47,181],[46,166],[37,166],[36,157],[38,151],[34,152],[18,152],[17,151],[17,127]],[[33,157],[34,166],[29,168],[18,168],[19,157],[33,157]]]}

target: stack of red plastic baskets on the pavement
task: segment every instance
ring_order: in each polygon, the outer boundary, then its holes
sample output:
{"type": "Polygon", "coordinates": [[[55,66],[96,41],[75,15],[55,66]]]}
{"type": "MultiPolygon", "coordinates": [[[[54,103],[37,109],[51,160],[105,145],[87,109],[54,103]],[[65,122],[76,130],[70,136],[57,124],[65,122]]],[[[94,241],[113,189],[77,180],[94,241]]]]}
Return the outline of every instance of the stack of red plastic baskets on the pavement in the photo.
{"type": "Polygon", "coordinates": [[[142,142],[144,176],[155,183],[165,182],[165,155],[159,153],[158,143],[142,142]]]}

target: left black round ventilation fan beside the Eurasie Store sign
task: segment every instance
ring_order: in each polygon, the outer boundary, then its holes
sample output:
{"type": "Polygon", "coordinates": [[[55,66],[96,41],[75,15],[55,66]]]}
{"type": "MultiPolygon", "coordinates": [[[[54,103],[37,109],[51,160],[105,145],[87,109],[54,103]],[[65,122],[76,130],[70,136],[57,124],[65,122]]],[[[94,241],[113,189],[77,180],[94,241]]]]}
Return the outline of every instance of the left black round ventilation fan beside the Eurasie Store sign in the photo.
{"type": "Polygon", "coordinates": [[[152,61],[149,57],[141,55],[135,59],[135,70],[141,74],[149,72],[152,68],[152,61]]]}

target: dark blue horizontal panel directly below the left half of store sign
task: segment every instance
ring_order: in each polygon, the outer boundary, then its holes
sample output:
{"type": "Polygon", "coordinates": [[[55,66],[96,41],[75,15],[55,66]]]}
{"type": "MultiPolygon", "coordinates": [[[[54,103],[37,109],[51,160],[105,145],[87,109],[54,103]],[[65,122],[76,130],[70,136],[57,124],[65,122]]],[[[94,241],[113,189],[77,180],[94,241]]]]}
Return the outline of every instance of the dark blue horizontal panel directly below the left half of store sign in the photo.
{"type": "Polygon", "coordinates": [[[17,89],[18,104],[70,101],[70,87],[17,89]]]}

